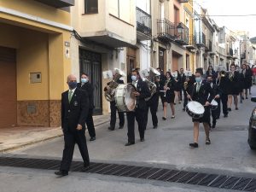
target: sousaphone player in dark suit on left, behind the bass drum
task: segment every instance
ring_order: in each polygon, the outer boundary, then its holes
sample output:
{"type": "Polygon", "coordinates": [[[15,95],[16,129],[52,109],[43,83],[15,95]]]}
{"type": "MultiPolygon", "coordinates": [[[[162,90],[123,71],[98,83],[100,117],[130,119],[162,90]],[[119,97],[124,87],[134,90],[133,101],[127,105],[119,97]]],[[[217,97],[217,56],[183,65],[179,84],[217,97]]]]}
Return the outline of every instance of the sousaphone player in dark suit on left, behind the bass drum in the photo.
{"type": "MultiPolygon", "coordinates": [[[[115,73],[113,73],[113,78],[114,78],[115,73]]],[[[104,88],[104,91],[107,91],[110,89],[109,84],[111,82],[108,82],[107,86],[104,88]]],[[[124,84],[123,80],[118,80],[116,83],[118,84],[124,84]]],[[[115,123],[116,123],[116,111],[118,109],[116,108],[116,103],[115,101],[110,102],[110,126],[108,127],[109,131],[113,131],[115,129],[115,123]]],[[[119,112],[119,129],[123,129],[125,125],[125,114],[122,112],[119,112]]]]}

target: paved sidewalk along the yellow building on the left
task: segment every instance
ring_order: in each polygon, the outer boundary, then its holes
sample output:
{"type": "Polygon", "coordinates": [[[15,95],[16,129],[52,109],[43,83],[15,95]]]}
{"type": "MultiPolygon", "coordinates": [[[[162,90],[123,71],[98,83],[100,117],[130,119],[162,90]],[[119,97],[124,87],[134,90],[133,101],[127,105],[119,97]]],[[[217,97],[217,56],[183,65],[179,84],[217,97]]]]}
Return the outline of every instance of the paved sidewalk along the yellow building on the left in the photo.
{"type": "MultiPolygon", "coordinates": [[[[109,121],[109,115],[94,116],[94,125],[109,121]]],[[[22,148],[33,143],[62,137],[61,127],[9,127],[0,129],[0,153],[22,148]]]]}

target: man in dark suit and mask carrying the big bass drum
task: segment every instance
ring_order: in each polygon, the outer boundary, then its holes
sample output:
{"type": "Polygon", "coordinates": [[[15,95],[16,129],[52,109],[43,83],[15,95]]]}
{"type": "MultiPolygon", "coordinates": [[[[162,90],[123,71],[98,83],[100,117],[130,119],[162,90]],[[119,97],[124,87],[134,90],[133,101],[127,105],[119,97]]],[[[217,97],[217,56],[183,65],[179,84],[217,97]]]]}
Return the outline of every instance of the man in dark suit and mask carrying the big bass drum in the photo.
{"type": "Polygon", "coordinates": [[[135,143],[135,134],[134,134],[134,124],[135,119],[137,120],[138,130],[140,134],[140,141],[144,141],[144,131],[146,129],[147,122],[145,121],[145,113],[147,109],[147,103],[145,98],[150,96],[150,91],[148,90],[148,84],[140,79],[139,73],[137,70],[132,71],[131,73],[132,84],[136,87],[137,91],[134,92],[134,95],[137,96],[137,107],[134,112],[127,112],[127,125],[128,125],[128,143],[125,146],[130,146],[135,143]]]}

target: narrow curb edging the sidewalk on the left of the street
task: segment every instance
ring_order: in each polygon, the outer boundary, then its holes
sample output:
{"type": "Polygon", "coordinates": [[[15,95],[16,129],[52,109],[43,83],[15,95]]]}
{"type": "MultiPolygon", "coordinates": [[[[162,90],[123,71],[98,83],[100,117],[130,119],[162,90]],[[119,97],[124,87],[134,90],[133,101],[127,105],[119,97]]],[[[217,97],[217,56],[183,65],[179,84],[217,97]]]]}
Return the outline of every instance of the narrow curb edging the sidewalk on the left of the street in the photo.
{"type": "MultiPolygon", "coordinates": [[[[105,123],[108,123],[108,120],[103,121],[102,123],[99,123],[99,124],[95,125],[95,128],[97,128],[98,126],[103,125],[105,123]]],[[[3,149],[0,149],[0,154],[7,153],[7,152],[13,151],[13,150],[18,149],[18,148],[24,148],[24,147],[27,147],[27,146],[32,145],[32,144],[37,144],[37,143],[40,143],[40,142],[46,142],[46,141],[49,141],[51,139],[55,139],[56,137],[63,137],[63,134],[61,133],[61,134],[58,134],[58,135],[55,135],[55,136],[52,136],[52,137],[46,137],[46,138],[38,139],[36,141],[31,141],[31,142],[20,144],[20,145],[10,147],[10,148],[3,148],[3,149]]]]}

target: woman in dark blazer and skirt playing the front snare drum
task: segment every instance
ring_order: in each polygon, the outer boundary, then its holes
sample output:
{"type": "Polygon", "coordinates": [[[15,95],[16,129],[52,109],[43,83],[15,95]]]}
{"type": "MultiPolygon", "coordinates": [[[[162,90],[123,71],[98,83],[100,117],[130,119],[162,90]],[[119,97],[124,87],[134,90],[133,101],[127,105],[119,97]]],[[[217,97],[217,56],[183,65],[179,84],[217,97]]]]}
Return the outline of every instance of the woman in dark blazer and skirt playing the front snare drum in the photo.
{"type": "Polygon", "coordinates": [[[206,132],[206,144],[211,144],[210,141],[210,103],[213,99],[213,90],[207,81],[202,79],[202,70],[197,69],[195,72],[195,84],[192,92],[189,93],[188,99],[192,99],[195,102],[200,102],[205,108],[205,113],[200,119],[192,119],[194,122],[194,143],[189,143],[191,148],[198,148],[198,137],[199,137],[199,125],[203,123],[206,132]]]}

